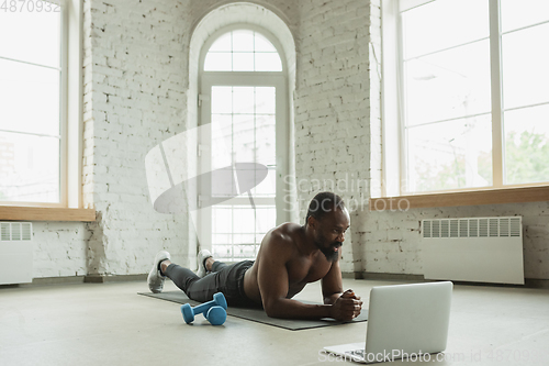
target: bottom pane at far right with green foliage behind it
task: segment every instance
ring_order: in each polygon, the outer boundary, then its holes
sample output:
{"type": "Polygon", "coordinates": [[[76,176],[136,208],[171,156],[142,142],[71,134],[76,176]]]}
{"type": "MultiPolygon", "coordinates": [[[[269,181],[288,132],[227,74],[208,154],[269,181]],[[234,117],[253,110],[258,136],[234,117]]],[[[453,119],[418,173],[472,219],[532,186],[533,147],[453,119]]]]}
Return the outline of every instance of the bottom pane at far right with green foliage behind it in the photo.
{"type": "Polygon", "coordinates": [[[549,181],[549,106],[507,111],[505,182],[549,181]]]}

